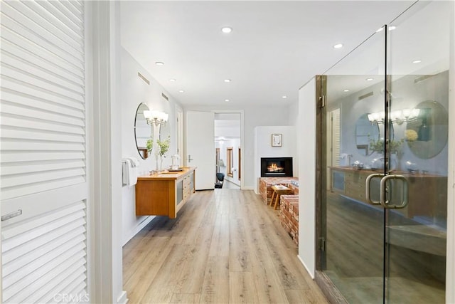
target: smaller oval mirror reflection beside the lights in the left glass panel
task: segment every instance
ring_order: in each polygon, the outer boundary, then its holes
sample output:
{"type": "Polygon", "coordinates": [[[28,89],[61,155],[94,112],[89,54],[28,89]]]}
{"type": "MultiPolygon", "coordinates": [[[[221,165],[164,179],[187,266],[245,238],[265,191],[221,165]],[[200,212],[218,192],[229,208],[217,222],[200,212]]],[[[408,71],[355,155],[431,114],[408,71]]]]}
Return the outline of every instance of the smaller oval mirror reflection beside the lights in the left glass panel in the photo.
{"type": "Polygon", "coordinates": [[[370,122],[368,113],[363,114],[355,122],[355,145],[360,155],[371,155],[373,150],[370,149],[371,141],[379,140],[378,122],[370,122]]]}

